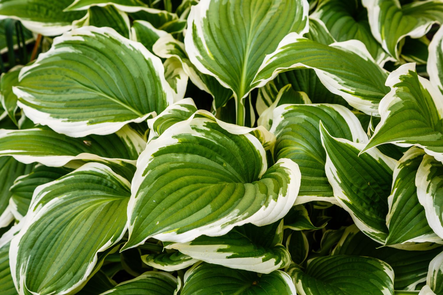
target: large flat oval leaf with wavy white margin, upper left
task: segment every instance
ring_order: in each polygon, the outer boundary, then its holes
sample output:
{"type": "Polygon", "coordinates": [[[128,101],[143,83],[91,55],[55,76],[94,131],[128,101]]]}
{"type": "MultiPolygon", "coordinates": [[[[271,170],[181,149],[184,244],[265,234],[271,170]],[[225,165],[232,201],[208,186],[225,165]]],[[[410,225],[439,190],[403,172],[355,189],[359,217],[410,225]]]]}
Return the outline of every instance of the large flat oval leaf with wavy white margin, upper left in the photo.
{"type": "Polygon", "coordinates": [[[173,102],[161,60],[109,27],[55,38],[19,82],[13,89],[26,116],[71,137],[114,133],[173,102]]]}

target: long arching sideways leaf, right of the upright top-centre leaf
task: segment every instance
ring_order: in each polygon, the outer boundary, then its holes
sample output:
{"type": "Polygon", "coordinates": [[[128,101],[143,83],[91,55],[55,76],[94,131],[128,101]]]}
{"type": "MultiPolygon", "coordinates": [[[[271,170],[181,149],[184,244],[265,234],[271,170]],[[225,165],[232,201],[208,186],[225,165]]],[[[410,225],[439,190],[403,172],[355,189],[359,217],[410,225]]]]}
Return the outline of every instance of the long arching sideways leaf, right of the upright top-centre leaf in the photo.
{"type": "Polygon", "coordinates": [[[389,92],[384,85],[388,74],[377,65],[362,42],[349,40],[328,46],[297,33],[288,34],[277,49],[266,56],[253,84],[261,86],[278,73],[307,68],[314,69],[330,92],[369,115],[377,115],[378,103],[389,92]]]}

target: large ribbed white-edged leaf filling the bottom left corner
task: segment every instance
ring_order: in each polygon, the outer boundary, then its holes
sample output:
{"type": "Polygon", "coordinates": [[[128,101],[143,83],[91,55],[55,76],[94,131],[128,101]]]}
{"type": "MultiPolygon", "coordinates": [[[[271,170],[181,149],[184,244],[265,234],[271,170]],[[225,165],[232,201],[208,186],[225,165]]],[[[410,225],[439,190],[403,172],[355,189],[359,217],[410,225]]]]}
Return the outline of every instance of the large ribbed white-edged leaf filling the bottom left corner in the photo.
{"type": "Polygon", "coordinates": [[[97,253],[123,237],[129,196],[128,180],[99,163],[36,188],[23,227],[11,241],[19,294],[81,289],[94,273],[97,253]]]}

